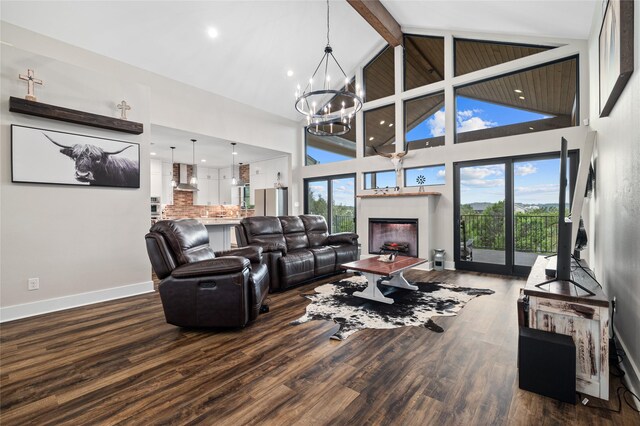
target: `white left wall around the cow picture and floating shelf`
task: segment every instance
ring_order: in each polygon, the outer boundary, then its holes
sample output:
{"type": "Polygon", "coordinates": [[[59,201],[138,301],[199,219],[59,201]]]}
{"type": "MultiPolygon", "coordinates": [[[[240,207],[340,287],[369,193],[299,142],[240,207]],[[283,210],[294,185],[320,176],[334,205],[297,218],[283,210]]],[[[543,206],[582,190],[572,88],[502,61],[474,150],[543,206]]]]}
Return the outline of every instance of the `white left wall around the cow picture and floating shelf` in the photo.
{"type": "Polygon", "coordinates": [[[152,288],[144,245],[150,218],[151,123],[301,155],[297,123],[292,121],[5,22],[0,37],[3,320],[121,297],[127,291],[120,286],[138,291],[142,283],[152,288]],[[25,83],[17,75],[27,68],[45,80],[45,87],[36,90],[41,102],[118,116],[114,106],[126,99],[133,108],[130,119],[142,122],[145,132],[131,136],[9,113],[9,96],[25,94],[25,83]],[[10,123],[138,142],[141,188],[13,184],[10,123]],[[26,290],[31,277],[40,278],[40,290],[26,290]]]}

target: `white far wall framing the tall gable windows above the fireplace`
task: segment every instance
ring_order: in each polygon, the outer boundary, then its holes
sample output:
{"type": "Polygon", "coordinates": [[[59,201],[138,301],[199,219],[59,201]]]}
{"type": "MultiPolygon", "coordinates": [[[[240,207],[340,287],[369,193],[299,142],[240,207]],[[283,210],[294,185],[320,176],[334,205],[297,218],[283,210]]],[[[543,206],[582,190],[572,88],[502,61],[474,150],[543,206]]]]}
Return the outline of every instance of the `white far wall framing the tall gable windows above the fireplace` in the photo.
{"type": "MultiPolygon", "coordinates": [[[[395,104],[396,109],[396,151],[401,152],[403,150],[404,132],[403,132],[403,102],[407,99],[416,98],[429,93],[442,92],[445,93],[445,145],[442,147],[434,147],[427,149],[420,149],[410,151],[405,157],[403,167],[417,167],[417,166],[429,166],[444,164],[446,172],[445,185],[438,186],[425,186],[426,191],[441,192],[442,196],[437,197],[435,203],[435,217],[434,217],[434,234],[432,235],[432,243],[434,248],[444,248],[446,250],[446,262],[447,267],[453,266],[454,258],[454,244],[453,244],[453,204],[454,204],[454,185],[453,185],[453,164],[455,162],[477,160],[477,159],[490,159],[506,156],[521,156],[530,154],[539,154],[547,152],[557,152],[560,150],[560,138],[564,136],[569,142],[569,149],[580,149],[585,141],[587,126],[580,125],[577,127],[564,128],[546,132],[538,132],[531,134],[523,134],[510,136],[505,138],[488,139],[476,142],[468,142],[462,144],[454,143],[453,126],[456,122],[455,111],[453,106],[454,101],[454,87],[463,85],[469,82],[482,80],[494,76],[499,76],[511,71],[517,71],[523,68],[544,64],[554,60],[562,59],[565,57],[580,55],[579,60],[579,87],[580,87],[580,117],[589,116],[589,93],[586,88],[589,85],[589,67],[587,60],[587,43],[583,40],[558,40],[548,38],[531,38],[531,37],[506,37],[499,34],[476,34],[476,33],[464,33],[464,32],[445,32],[445,31],[433,31],[428,32],[424,29],[403,28],[405,33],[409,34],[424,34],[442,36],[445,40],[445,79],[437,83],[433,83],[420,88],[412,89],[407,92],[402,92],[402,68],[399,63],[402,62],[402,48],[397,47],[395,51],[396,55],[396,70],[395,70],[395,95],[386,97],[384,99],[378,99],[373,102],[365,103],[363,111],[378,108],[380,106],[395,104]],[[452,46],[453,39],[455,37],[470,38],[479,40],[493,40],[493,41],[505,41],[511,43],[527,43],[527,44],[540,44],[559,46],[555,49],[548,50],[546,52],[521,58],[515,61],[507,62],[504,64],[496,65],[491,68],[479,70],[469,74],[461,75],[458,77],[453,76],[453,55],[452,46]]],[[[371,57],[375,56],[380,49],[376,49],[372,52],[371,57]]],[[[366,65],[363,63],[359,70],[356,72],[356,80],[358,84],[362,85],[362,67],[366,65]]],[[[362,126],[362,112],[357,115],[358,120],[358,133],[356,135],[356,158],[348,161],[341,161],[338,163],[318,164],[308,167],[302,167],[300,177],[320,177],[342,173],[355,172],[357,175],[357,192],[359,194],[371,193],[373,191],[363,190],[362,173],[374,170],[389,170],[392,168],[391,162],[386,158],[381,157],[363,157],[363,126],[362,126]]],[[[303,131],[300,132],[303,135],[303,131]]],[[[303,137],[303,136],[302,136],[303,137]]],[[[298,157],[301,161],[304,161],[304,155],[298,157]]],[[[402,175],[402,173],[401,173],[402,175]]],[[[402,179],[402,176],[400,176],[402,179]]],[[[398,182],[399,186],[403,186],[403,182],[398,182]]],[[[302,188],[300,188],[302,191],[302,188]]],[[[417,191],[416,188],[403,188],[404,192],[417,191]]],[[[302,192],[299,194],[299,199],[303,199],[302,192]]],[[[397,205],[398,200],[387,200],[390,204],[397,205]]],[[[360,201],[358,201],[357,207],[360,208],[360,201]]],[[[359,218],[360,219],[360,218],[359,218]]],[[[358,233],[364,235],[368,232],[368,225],[363,223],[364,221],[358,221],[358,233]]],[[[422,231],[421,231],[422,233],[422,231]]],[[[421,235],[421,238],[424,236],[421,235]]],[[[364,248],[363,248],[364,252],[364,248]]],[[[421,256],[431,257],[431,253],[424,253],[421,256]]]]}

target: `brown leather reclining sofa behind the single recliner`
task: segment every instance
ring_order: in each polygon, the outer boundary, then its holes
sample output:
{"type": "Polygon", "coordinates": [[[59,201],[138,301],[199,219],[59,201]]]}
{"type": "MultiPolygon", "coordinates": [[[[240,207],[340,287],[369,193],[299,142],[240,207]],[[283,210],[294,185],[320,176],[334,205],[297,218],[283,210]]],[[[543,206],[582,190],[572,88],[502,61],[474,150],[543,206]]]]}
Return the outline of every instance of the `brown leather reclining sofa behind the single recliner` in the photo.
{"type": "Polygon", "coordinates": [[[271,291],[339,273],[358,256],[358,235],[329,234],[322,216],[254,216],[236,226],[238,246],[261,247],[271,291]]]}

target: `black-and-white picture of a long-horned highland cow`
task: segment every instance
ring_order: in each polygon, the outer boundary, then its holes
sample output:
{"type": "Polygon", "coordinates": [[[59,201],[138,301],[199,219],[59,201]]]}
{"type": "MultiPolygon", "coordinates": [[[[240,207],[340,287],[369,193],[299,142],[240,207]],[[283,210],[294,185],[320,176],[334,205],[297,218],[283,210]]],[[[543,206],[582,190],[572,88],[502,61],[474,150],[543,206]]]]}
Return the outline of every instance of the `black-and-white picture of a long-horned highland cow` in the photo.
{"type": "Polygon", "coordinates": [[[140,188],[140,145],[12,124],[11,181],[140,188]]]}

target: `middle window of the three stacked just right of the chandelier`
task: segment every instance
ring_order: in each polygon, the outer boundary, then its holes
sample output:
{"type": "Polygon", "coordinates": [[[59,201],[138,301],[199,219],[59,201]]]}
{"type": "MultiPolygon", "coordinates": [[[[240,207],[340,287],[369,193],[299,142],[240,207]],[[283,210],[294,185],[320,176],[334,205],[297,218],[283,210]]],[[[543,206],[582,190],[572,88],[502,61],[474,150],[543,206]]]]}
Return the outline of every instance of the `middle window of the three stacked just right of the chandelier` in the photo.
{"type": "Polygon", "coordinates": [[[378,152],[387,154],[396,151],[396,106],[395,104],[365,111],[364,117],[364,155],[376,155],[378,152]]]}

